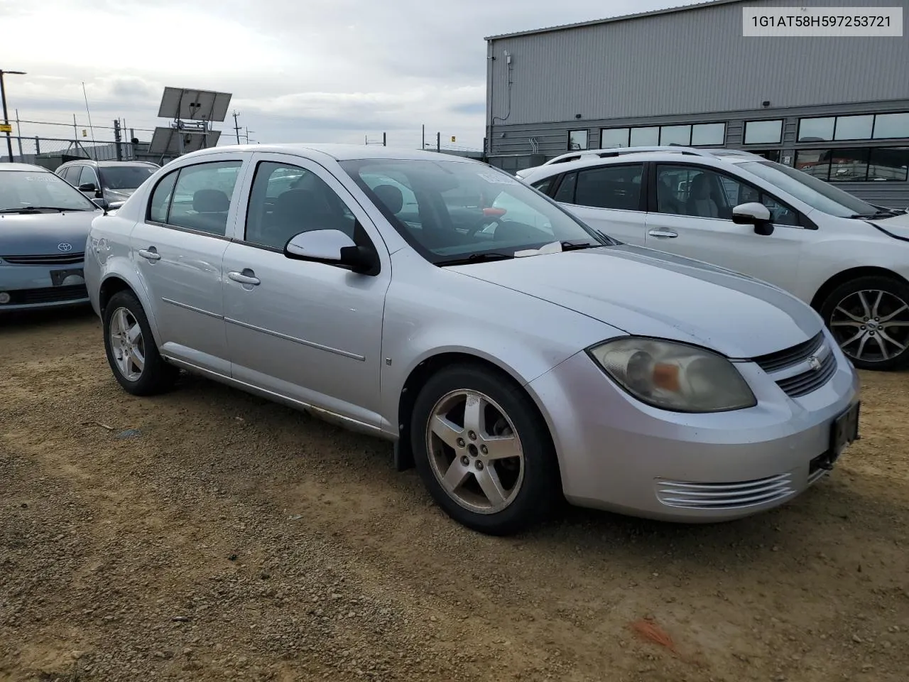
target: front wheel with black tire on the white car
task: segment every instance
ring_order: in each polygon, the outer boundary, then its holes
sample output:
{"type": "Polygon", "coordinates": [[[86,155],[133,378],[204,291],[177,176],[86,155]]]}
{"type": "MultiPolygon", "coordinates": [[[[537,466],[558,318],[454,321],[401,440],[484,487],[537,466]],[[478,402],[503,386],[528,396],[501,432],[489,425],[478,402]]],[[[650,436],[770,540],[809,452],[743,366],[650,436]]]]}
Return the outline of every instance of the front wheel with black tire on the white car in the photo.
{"type": "MultiPolygon", "coordinates": [[[[909,326],[892,326],[888,329],[881,320],[892,316],[902,306],[909,306],[909,286],[905,282],[887,276],[864,276],[837,286],[824,298],[820,314],[855,367],[892,371],[909,366],[909,326]],[[875,316],[875,312],[878,315],[875,316]],[[872,314],[869,316],[867,313],[872,314]],[[884,336],[881,336],[882,330],[884,336]],[[866,335],[864,346],[861,337],[847,343],[860,333],[866,335]],[[906,346],[905,349],[899,350],[899,346],[892,343],[891,339],[906,346]],[[882,351],[882,344],[886,352],[882,351]]],[[[909,322],[909,307],[895,313],[895,317],[887,321],[896,320],[909,322]]]]}

